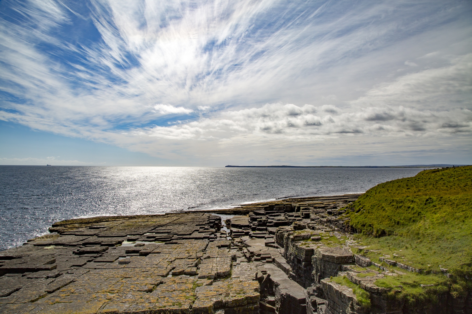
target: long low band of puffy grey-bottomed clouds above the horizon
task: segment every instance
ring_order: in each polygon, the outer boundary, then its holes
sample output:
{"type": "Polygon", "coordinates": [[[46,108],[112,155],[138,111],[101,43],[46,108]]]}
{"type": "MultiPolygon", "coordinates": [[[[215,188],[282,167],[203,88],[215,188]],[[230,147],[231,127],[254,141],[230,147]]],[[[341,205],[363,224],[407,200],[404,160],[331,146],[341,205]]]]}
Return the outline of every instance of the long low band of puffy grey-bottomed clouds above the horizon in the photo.
{"type": "Polygon", "coordinates": [[[267,104],[261,108],[221,113],[170,128],[153,127],[141,132],[152,137],[177,140],[211,136],[214,139],[253,135],[283,135],[289,140],[311,141],[346,134],[375,136],[426,136],[439,133],[472,133],[472,112],[419,111],[403,106],[347,108],[341,110],[312,105],[267,104]],[[334,111],[336,110],[336,111],[334,111]],[[336,113],[336,114],[333,114],[336,113]]]}

